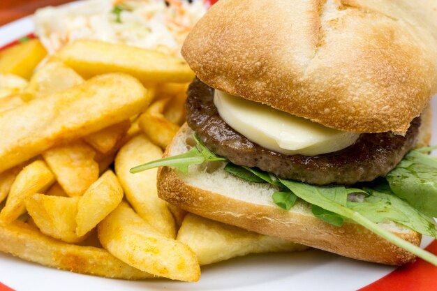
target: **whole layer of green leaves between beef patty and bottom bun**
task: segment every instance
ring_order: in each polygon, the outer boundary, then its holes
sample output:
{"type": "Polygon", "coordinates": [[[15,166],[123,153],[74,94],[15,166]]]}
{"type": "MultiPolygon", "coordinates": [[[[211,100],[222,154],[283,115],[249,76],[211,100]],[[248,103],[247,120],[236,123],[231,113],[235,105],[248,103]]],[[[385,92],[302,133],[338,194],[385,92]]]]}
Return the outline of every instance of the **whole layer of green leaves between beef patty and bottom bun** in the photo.
{"type": "MultiPolygon", "coordinates": [[[[207,161],[227,161],[209,151],[195,137],[196,146],[185,154],[163,158],[140,165],[131,172],[153,167],[172,166],[188,172],[189,165],[207,161]]],[[[422,248],[397,237],[378,223],[392,221],[421,234],[437,238],[437,227],[431,216],[437,216],[437,159],[424,153],[436,149],[428,147],[409,154],[385,179],[376,179],[371,187],[313,186],[299,181],[279,179],[259,169],[240,167],[232,163],[226,172],[246,181],[269,183],[279,187],[272,200],[281,208],[290,210],[297,197],[311,204],[313,215],[340,227],[345,219],[355,221],[396,246],[414,253],[437,266],[437,257],[422,248]],[[395,195],[396,194],[396,195],[395,195]],[[399,197],[398,197],[399,196],[399,197]],[[405,199],[405,200],[403,200],[405,199]]]]}

